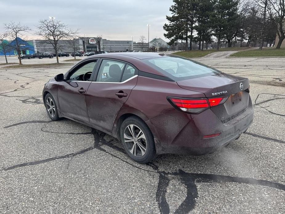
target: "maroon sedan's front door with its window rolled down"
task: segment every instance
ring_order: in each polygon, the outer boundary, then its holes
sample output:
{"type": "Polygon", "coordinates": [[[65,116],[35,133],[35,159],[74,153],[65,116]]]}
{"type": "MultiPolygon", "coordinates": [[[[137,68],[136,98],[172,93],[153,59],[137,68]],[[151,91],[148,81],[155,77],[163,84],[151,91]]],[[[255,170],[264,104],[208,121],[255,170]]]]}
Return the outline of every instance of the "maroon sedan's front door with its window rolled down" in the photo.
{"type": "Polygon", "coordinates": [[[72,69],[66,81],[60,82],[58,100],[60,111],[67,116],[89,122],[85,95],[95,72],[97,60],[89,60],[72,69]]]}

